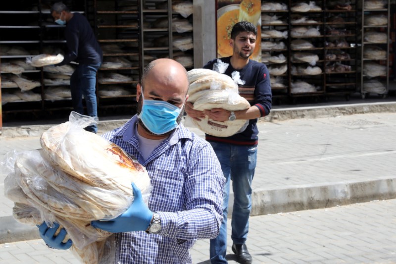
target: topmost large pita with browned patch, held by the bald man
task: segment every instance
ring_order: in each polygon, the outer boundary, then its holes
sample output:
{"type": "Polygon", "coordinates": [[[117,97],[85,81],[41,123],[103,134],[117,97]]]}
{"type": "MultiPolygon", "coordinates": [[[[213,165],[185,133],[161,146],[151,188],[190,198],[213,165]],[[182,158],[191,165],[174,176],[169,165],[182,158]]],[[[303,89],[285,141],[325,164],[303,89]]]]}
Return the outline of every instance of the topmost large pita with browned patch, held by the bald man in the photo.
{"type": "Polygon", "coordinates": [[[142,193],[147,191],[150,179],[144,166],[108,140],[84,129],[73,130],[76,128],[68,121],[42,134],[43,156],[54,168],[93,187],[113,185],[131,194],[134,182],[142,193]]]}

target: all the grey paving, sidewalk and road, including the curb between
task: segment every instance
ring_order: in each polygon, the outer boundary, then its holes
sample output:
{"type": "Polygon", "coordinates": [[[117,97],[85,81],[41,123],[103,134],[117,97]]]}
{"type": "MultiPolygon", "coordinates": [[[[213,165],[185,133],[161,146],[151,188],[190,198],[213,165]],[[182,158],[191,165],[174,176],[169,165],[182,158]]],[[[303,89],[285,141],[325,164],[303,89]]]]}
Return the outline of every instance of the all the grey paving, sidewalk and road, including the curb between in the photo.
{"type": "MultiPolygon", "coordinates": [[[[382,201],[396,198],[396,113],[266,121],[259,131],[252,212],[259,216],[247,241],[255,263],[396,263],[396,200],[382,201]],[[336,206],[365,201],[376,202],[336,206]]],[[[0,158],[39,147],[35,136],[0,137],[0,158]]],[[[0,220],[12,211],[3,181],[0,220]]],[[[208,241],[199,241],[194,263],[205,263],[207,252],[208,241]]],[[[0,244],[5,263],[77,261],[30,240],[0,244]]]]}

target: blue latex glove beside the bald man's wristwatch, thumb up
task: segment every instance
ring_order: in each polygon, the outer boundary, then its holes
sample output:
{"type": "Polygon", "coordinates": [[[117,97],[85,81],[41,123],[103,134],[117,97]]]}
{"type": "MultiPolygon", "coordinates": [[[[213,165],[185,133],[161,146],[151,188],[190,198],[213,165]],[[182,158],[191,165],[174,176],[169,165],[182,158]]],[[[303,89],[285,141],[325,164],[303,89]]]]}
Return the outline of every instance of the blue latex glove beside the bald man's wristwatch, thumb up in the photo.
{"type": "Polygon", "coordinates": [[[113,220],[92,221],[91,225],[112,233],[145,231],[151,222],[152,211],[144,203],[142,192],[134,183],[132,183],[132,190],[135,199],[127,211],[113,220]]]}

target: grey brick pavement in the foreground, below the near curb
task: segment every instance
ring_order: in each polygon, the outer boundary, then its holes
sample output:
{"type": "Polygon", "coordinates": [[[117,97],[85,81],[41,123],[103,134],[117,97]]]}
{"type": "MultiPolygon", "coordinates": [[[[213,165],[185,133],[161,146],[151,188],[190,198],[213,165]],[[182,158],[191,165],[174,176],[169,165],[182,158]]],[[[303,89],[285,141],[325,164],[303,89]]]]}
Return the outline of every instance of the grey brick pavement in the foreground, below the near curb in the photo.
{"type": "MultiPolygon", "coordinates": [[[[253,263],[394,264],[396,199],[252,216],[247,245],[253,263]]],[[[229,245],[231,245],[229,239],[229,245]]],[[[193,263],[209,264],[209,244],[199,240],[193,263]]],[[[228,248],[230,264],[237,263],[228,248]]],[[[42,240],[0,244],[0,264],[80,264],[68,251],[42,240]]]]}

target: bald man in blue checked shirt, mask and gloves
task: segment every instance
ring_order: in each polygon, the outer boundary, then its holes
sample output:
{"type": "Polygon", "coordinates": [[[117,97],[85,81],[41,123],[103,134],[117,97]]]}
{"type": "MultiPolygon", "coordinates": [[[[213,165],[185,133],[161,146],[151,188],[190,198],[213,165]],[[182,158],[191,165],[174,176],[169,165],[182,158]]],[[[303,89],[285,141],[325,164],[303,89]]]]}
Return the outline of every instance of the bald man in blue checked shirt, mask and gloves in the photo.
{"type": "MultiPolygon", "coordinates": [[[[135,198],[127,211],[92,222],[116,233],[114,263],[192,263],[195,241],[219,233],[225,179],[210,144],[181,123],[188,88],[180,63],[152,61],[137,86],[138,113],[103,135],[146,167],[152,185],[148,205],[132,184],[135,198]]],[[[71,246],[62,242],[67,230],[55,236],[56,226],[39,229],[50,247],[71,246]]]]}

